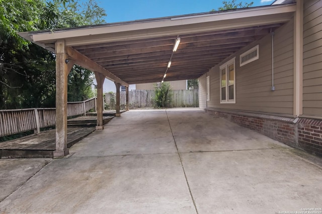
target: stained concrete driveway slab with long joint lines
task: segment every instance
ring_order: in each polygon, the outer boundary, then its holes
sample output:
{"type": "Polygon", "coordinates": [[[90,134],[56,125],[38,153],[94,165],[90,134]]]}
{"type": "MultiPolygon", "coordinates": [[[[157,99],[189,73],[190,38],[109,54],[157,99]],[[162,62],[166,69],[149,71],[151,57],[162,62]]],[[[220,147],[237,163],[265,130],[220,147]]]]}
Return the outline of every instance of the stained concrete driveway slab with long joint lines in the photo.
{"type": "Polygon", "coordinates": [[[199,109],[131,110],[70,152],[0,159],[0,213],[322,208],[320,158],[199,109]]]}

